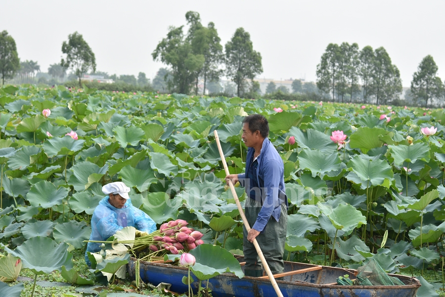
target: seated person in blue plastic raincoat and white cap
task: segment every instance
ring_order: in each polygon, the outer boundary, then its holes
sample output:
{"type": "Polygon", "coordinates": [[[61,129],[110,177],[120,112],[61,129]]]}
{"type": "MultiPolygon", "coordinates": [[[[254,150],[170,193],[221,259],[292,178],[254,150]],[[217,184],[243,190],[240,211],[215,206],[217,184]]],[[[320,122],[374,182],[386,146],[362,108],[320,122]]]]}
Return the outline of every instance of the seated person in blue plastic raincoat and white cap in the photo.
{"type": "MultiPolygon", "coordinates": [[[[99,202],[93,212],[89,240],[106,241],[110,236],[127,226],[136,228],[136,237],[156,231],[156,223],[148,214],[132,205],[128,196],[130,188],[125,183],[116,181],[106,184],[102,187],[102,192],[107,196],[99,202]]],[[[85,261],[88,266],[91,266],[91,262],[87,252],[95,253],[100,250],[98,243],[89,242],[87,244],[85,261]]]]}

